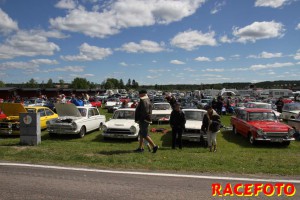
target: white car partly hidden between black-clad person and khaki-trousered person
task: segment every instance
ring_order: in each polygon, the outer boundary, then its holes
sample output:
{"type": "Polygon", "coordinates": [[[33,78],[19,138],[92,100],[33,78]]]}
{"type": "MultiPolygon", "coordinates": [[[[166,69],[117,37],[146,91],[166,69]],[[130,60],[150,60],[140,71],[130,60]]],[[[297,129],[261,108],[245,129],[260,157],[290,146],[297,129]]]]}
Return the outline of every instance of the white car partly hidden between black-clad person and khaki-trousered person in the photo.
{"type": "Polygon", "coordinates": [[[185,114],[185,130],[182,133],[182,140],[201,142],[207,145],[207,135],[201,131],[203,116],[206,110],[182,109],[185,114]]]}

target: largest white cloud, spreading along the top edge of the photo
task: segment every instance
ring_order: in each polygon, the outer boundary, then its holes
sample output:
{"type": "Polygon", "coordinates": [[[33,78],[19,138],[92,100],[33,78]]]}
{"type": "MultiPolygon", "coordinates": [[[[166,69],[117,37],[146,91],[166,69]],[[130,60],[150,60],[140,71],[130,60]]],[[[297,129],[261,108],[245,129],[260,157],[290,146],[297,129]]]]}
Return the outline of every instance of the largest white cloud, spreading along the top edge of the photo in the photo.
{"type": "Polygon", "coordinates": [[[87,11],[83,6],[75,8],[71,2],[58,3],[61,4],[59,7],[71,10],[65,17],[50,19],[51,26],[103,38],[117,34],[124,28],[180,21],[194,14],[205,0],[117,0],[105,4],[102,12],[97,12],[97,9],[87,11]]]}

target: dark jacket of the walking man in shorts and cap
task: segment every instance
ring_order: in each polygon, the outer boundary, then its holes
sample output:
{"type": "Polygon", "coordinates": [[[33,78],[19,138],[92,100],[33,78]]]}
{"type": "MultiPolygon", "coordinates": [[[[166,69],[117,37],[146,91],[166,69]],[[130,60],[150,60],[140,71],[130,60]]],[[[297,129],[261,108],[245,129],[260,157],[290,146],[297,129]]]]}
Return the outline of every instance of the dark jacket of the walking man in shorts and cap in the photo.
{"type": "Polygon", "coordinates": [[[152,104],[148,96],[142,97],[138,106],[135,109],[136,122],[151,122],[152,104]]]}

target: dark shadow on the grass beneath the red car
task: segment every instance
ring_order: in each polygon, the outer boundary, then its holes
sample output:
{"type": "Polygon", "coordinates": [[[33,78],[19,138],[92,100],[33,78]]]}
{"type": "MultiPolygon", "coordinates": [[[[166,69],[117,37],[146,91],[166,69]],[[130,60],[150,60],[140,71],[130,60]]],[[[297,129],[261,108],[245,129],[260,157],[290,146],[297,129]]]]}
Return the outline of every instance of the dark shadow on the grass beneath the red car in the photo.
{"type": "Polygon", "coordinates": [[[233,134],[232,131],[221,131],[222,137],[229,143],[238,144],[244,148],[287,148],[288,146],[277,142],[257,142],[255,145],[249,143],[248,138],[233,134]]]}

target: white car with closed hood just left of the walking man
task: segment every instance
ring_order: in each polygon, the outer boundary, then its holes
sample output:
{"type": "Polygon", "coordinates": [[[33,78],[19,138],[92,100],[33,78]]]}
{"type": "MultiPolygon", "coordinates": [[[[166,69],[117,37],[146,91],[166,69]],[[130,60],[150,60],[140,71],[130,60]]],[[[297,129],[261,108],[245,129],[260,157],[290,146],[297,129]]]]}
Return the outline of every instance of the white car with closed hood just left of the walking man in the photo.
{"type": "Polygon", "coordinates": [[[138,138],[139,125],[134,121],[135,108],[120,108],[103,126],[104,138],[138,138]]]}

